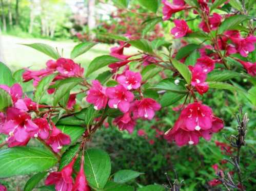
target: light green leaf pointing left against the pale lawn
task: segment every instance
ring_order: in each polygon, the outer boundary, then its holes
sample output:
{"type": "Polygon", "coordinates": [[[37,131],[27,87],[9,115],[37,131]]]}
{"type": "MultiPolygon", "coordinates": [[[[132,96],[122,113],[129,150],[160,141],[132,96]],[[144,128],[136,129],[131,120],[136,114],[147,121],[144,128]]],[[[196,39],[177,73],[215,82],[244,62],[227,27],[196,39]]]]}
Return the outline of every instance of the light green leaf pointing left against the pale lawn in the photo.
{"type": "Polygon", "coordinates": [[[33,49],[40,51],[46,55],[48,55],[49,57],[53,58],[53,59],[58,59],[60,58],[60,54],[57,53],[57,51],[55,51],[53,49],[53,47],[49,46],[48,44],[44,44],[44,43],[33,43],[33,44],[22,44],[22,45],[26,45],[29,47],[32,47],[33,49]]]}

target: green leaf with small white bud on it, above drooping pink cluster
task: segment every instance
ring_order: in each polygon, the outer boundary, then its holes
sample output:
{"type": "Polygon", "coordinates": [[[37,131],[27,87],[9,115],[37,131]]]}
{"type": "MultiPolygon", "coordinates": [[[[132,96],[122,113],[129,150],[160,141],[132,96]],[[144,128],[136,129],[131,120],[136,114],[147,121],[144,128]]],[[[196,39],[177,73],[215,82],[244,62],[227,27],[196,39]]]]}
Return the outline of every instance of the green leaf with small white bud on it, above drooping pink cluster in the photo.
{"type": "Polygon", "coordinates": [[[159,82],[157,85],[153,86],[152,88],[160,89],[160,90],[169,90],[175,93],[186,93],[187,89],[185,87],[185,83],[183,80],[179,80],[178,84],[175,84],[175,79],[173,78],[166,78],[159,82]]]}

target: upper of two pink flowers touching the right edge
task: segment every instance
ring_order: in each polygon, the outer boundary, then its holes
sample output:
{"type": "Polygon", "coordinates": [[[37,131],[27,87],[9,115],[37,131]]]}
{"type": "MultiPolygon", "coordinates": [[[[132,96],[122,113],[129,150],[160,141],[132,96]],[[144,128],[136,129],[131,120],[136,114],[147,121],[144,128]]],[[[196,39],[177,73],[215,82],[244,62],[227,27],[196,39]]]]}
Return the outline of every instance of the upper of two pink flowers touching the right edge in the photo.
{"type": "Polygon", "coordinates": [[[255,36],[248,36],[246,38],[235,38],[230,37],[230,39],[235,43],[238,52],[243,57],[247,57],[247,55],[254,51],[254,43],[256,42],[255,36]]]}

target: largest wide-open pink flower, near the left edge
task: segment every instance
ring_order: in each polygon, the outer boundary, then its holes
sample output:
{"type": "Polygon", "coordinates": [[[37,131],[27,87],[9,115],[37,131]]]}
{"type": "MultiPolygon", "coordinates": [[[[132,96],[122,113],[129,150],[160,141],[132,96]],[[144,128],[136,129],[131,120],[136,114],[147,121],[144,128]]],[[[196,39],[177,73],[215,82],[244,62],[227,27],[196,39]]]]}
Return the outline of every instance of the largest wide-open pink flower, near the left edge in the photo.
{"type": "Polygon", "coordinates": [[[38,129],[25,111],[10,107],[6,113],[7,122],[2,128],[2,132],[9,135],[9,138],[13,137],[12,141],[24,142],[32,136],[33,131],[38,129]]]}

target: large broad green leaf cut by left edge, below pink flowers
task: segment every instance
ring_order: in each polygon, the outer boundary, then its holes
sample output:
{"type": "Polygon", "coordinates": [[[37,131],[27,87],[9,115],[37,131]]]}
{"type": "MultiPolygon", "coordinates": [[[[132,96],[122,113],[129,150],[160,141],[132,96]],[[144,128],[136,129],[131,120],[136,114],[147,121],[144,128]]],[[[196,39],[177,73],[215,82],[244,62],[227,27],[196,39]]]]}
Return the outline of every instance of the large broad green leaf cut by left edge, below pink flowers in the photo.
{"type": "Polygon", "coordinates": [[[57,163],[43,148],[13,147],[0,150],[0,178],[43,172],[57,163]]]}

